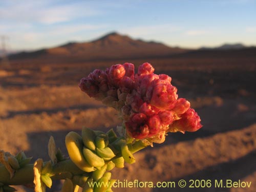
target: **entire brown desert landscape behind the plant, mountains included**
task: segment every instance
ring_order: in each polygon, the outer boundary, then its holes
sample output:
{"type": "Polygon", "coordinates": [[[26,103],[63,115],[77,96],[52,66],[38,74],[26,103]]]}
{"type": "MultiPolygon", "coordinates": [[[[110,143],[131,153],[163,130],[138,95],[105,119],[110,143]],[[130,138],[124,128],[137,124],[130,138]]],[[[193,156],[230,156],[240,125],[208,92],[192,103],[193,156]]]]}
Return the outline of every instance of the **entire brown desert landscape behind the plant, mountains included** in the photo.
{"type": "MultiPolygon", "coordinates": [[[[132,62],[138,67],[150,62],[156,74],[172,77],[179,97],[191,102],[203,127],[195,133],[169,134],[163,144],[136,153],[135,164],[113,170],[112,177],[120,181],[138,179],[155,184],[175,181],[175,187],[113,190],[256,191],[256,49],[191,51],[166,48],[155,42],[135,43],[127,40],[128,37],[125,40],[115,35],[106,36],[103,41],[95,40],[96,44],[92,41],[92,45],[69,44],[14,55],[9,63],[2,62],[0,148],[13,154],[25,151],[33,156],[33,161],[38,157],[48,160],[47,144],[51,135],[67,154],[64,141],[69,131],[80,133],[82,126],[103,131],[116,127],[120,120],[115,110],[81,92],[80,78],[96,68],[105,69],[116,63],[132,62]],[[122,44],[129,53],[125,53],[125,48],[118,52],[122,44]],[[92,55],[102,52],[102,46],[115,49],[105,55],[92,55]],[[138,49],[142,51],[134,55],[138,49]],[[87,57],[83,56],[84,50],[87,57]],[[178,186],[181,179],[187,182],[184,188],[178,186]],[[189,180],[196,179],[210,180],[212,186],[189,188],[189,180]],[[221,188],[214,186],[215,180],[240,180],[251,185],[221,188]]],[[[55,183],[48,191],[59,191],[60,187],[55,183]]],[[[19,187],[18,191],[32,189],[19,187]]]]}

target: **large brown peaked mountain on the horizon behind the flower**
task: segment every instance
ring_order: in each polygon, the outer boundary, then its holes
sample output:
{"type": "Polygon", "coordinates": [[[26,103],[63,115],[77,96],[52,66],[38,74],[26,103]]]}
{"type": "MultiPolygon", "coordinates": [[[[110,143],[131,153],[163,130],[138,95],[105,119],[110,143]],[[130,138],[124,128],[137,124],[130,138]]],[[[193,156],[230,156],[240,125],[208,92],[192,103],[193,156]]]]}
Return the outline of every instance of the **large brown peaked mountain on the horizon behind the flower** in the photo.
{"type": "Polygon", "coordinates": [[[55,48],[14,54],[10,58],[125,59],[167,56],[187,51],[181,48],[171,48],[159,42],[132,39],[114,32],[89,42],[69,42],[55,48]]]}

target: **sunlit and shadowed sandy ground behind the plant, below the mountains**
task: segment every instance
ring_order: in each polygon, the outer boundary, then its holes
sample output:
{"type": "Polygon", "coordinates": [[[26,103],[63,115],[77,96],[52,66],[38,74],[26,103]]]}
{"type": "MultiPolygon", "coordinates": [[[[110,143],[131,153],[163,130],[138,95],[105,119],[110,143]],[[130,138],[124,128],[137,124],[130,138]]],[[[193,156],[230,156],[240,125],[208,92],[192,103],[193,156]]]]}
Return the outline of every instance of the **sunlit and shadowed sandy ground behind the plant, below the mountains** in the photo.
{"type": "MultiPolygon", "coordinates": [[[[159,66],[158,71],[161,71],[159,66]]],[[[120,124],[115,110],[89,98],[79,90],[77,83],[74,84],[84,76],[79,70],[44,69],[2,69],[2,150],[12,154],[22,150],[33,156],[33,161],[38,157],[48,160],[47,143],[51,135],[67,154],[64,140],[69,131],[80,133],[82,126],[106,131],[120,124]],[[74,77],[69,79],[71,76],[74,77]],[[61,81],[60,77],[65,80],[61,81]]],[[[172,73],[178,93],[191,101],[201,116],[203,128],[196,133],[169,134],[165,143],[136,153],[135,164],[115,168],[112,177],[154,184],[174,181],[176,186],[114,188],[114,191],[256,191],[256,94],[253,88],[256,80],[252,75],[255,68],[243,72],[176,69],[176,73],[172,73]],[[178,181],[181,179],[187,186],[191,184],[189,180],[196,179],[210,180],[212,186],[180,188],[178,181]],[[252,183],[250,188],[214,187],[215,180],[225,182],[227,179],[252,183]]],[[[47,191],[58,191],[59,187],[60,183],[55,183],[53,189],[47,191]]],[[[32,190],[19,187],[18,191],[32,190]]]]}

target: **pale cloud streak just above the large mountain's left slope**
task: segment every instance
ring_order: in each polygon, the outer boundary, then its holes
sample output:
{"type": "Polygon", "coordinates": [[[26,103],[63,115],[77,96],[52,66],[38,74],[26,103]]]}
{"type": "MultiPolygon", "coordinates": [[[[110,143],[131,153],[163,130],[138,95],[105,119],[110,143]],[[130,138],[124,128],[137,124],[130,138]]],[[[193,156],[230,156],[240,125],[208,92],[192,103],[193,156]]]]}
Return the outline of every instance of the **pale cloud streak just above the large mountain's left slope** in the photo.
{"type": "Polygon", "coordinates": [[[67,41],[84,41],[91,39],[98,30],[108,28],[108,25],[69,24],[52,26],[38,30],[11,31],[8,33],[10,44],[14,49],[41,49],[54,47],[67,41]]]}

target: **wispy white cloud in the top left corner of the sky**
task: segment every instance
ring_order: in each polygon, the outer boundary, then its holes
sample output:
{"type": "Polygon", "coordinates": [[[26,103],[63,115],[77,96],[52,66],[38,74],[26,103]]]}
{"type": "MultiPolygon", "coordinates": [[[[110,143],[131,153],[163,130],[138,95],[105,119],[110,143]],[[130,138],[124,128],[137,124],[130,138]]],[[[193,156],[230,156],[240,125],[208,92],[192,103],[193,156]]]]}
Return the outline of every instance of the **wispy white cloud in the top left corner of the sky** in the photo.
{"type": "Polygon", "coordinates": [[[54,1],[9,1],[0,6],[0,17],[11,23],[55,24],[102,14],[86,2],[53,4],[54,1]]]}

